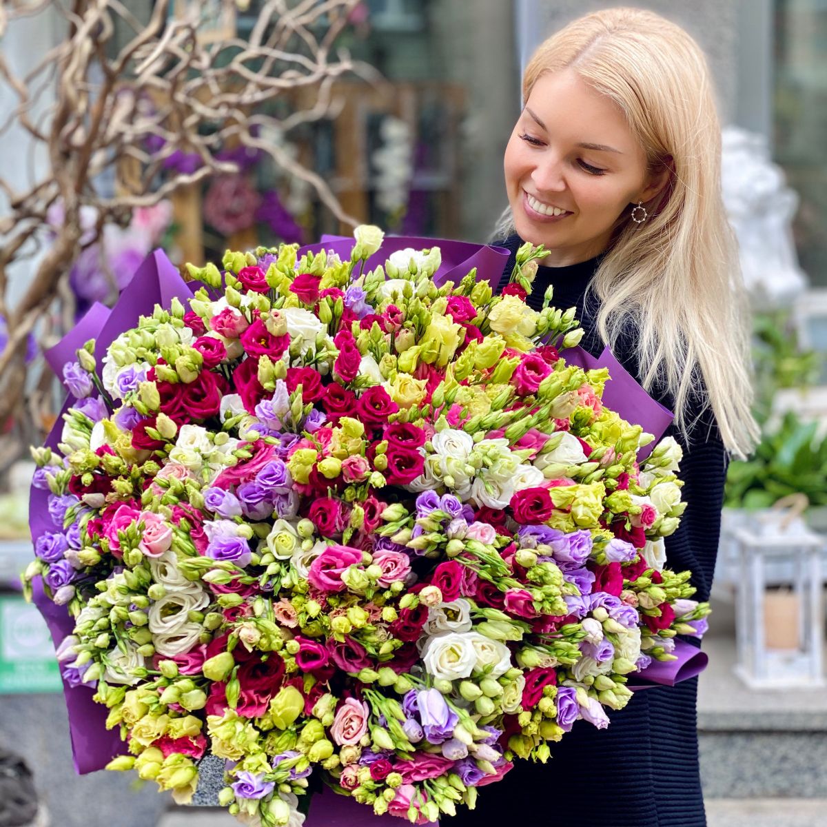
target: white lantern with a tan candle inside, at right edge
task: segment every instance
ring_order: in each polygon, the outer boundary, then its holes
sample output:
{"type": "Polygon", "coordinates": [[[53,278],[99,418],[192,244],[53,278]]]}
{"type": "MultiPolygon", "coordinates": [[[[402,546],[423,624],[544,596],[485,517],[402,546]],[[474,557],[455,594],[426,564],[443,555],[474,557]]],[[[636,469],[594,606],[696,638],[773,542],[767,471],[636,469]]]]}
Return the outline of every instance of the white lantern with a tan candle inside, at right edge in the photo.
{"type": "Polygon", "coordinates": [[[821,555],[827,538],[776,510],[734,529],[736,674],[753,689],[825,686],[821,555]],[[781,586],[773,589],[771,586],[781,586]]]}

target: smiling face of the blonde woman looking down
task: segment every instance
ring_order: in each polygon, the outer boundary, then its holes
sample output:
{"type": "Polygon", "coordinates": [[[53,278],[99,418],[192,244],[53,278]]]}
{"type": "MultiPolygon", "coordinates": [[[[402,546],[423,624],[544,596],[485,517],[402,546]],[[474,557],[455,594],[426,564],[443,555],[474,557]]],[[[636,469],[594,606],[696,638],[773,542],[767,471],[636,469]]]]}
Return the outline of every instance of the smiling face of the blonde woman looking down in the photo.
{"type": "Polygon", "coordinates": [[[618,218],[657,194],[643,146],[623,114],[573,70],[534,84],[505,149],[505,187],[519,236],[546,265],[586,261],[609,246],[618,218]]]}

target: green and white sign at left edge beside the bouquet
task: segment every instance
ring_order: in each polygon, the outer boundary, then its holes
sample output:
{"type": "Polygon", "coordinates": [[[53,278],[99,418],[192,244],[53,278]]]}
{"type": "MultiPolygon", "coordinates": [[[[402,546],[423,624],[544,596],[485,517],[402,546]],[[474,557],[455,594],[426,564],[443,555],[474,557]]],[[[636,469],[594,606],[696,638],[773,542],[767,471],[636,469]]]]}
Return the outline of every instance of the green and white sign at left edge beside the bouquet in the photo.
{"type": "Polygon", "coordinates": [[[63,689],[49,629],[36,606],[22,597],[0,597],[0,693],[63,689]]]}

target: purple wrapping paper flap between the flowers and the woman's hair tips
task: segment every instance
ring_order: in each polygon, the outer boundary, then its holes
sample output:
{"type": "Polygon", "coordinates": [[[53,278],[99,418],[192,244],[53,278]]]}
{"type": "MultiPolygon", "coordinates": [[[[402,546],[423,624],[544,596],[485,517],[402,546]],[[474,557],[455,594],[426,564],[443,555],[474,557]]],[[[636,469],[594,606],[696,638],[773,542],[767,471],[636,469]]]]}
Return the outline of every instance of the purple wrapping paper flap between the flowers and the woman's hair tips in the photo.
{"type": "Polygon", "coordinates": [[[620,414],[627,422],[641,425],[644,431],[655,435],[653,442],[649,442],[638,451],[638,462],[643,462],[652,453],[657,440],[663,436],[675,414],[649,396],[638,384],[638,380],[614,358],[608,347],[600,356],[592,356],[580,346],[568,347],[562,351],[561,356],[566,360],[566,365],[576,365],[583,370],[609,368],[611,378],[603,390],[603,404],[620,414]]]}

